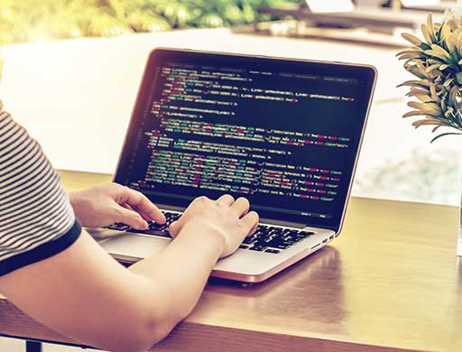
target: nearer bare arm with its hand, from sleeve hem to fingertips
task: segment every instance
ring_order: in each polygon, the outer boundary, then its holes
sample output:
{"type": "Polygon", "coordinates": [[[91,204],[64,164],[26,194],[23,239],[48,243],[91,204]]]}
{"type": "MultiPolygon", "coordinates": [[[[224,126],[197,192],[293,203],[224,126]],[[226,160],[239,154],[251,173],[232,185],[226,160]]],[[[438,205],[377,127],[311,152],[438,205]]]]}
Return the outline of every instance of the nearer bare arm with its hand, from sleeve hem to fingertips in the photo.
{"type": "Polygon", "coordinates": [[[128,270],[84,230],[60,254],[0,277],[0,290],[32,318],[82,343],[142,351],[189,314],[218,257],[252,231],[258,217],[247,211],[245,199],[197,199],[172,226],[171,245],[128,270]]]}

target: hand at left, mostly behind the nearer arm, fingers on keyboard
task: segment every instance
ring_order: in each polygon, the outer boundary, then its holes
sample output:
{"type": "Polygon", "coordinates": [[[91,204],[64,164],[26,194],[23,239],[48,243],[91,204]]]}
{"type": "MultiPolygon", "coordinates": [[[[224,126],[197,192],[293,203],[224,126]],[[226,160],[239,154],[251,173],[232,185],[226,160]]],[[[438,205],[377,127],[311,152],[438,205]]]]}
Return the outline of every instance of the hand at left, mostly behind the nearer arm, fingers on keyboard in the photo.
{"type": "Polygon", "coordinates": [[[117,183],[69,194],[70,204],[84,227],[106,227],[121,222],[144,230],[147,221],[164,224],[162,211],[143,193],[117,183]]]}

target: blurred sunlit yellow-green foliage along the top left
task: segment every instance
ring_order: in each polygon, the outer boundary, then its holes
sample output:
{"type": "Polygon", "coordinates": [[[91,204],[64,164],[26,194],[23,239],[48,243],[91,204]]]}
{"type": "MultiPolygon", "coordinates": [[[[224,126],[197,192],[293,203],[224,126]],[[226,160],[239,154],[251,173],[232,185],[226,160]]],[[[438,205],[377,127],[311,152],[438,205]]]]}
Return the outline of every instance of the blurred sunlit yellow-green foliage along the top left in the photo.
{"type": "Polygon", "coordinates": [[[261,5],[297,0],[0,0],[5,42],[114,36],[177,28],[221,27],[268,20],[261,5]]]}

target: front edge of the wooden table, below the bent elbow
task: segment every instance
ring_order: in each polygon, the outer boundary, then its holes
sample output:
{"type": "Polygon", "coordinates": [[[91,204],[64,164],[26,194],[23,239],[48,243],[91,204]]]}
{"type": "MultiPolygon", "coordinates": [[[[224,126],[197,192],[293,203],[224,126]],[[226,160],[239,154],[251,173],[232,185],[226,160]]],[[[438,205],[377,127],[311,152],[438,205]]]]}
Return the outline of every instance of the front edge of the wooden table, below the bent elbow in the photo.
{"type": "MultiPolygon", "coordinates": [[[[33,320],[0,296],[0,335],[8,338],[32,339],[69,346],[88,347],[79,341],[67,338],[33,320]],[[19,329],[18,329],[19,328],[19,329]]],[[[277,332],[252,329],[236,329],[224,326],[208,325],[198,322],[181,322],[171,334],[152,347],[153,351],[173,352],[214,351],[265,351],[276,352],[416,352],[416,349],[374,346],[366,343],[332,339],[329,337],[301,337],[277,332]]]]}

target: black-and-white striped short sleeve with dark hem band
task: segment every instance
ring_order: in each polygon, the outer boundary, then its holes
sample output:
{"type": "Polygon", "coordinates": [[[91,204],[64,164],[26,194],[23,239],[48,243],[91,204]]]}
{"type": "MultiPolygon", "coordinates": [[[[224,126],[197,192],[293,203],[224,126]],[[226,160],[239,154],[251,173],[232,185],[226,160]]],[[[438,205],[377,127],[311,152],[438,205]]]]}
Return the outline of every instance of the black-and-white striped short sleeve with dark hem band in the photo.
{"type": "Polygon", "coordinates": [[[60,253],[80,231],[41,146],[0,111],[0,275],[60,253]]]}

